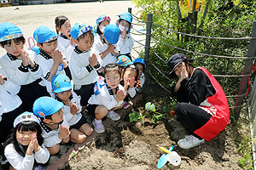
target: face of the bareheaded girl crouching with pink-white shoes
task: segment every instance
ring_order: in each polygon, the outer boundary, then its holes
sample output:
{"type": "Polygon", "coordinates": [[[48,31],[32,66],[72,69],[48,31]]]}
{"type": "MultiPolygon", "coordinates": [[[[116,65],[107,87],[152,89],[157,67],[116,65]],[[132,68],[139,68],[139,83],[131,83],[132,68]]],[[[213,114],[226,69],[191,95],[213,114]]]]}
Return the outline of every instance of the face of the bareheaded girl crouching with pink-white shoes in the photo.
{"type": "Polygon", "coordinates": [[[105,74],[105,80],[108,86],[114,89],[118,87],[121,80],[121,76],[118,71],[108,71],[105,74]]]}

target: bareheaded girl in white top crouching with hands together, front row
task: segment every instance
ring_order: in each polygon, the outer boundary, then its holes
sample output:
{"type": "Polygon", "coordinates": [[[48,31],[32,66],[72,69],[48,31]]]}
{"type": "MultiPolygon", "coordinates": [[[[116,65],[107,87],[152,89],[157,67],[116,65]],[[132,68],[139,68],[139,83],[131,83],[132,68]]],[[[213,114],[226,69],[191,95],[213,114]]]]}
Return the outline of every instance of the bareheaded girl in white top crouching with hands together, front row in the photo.
{"type": "MultiPolygon", "coordinates": [[[[92,122],[96,133],[105,132],[105,127],[102,124],[102,118],[108,116],[113,121],[118,121],[120,116],[114,110],[120,109],[125,99],[125,90],[121,81],[121,69],[117,64],[108,64],[104,70],[105,83],[102,86],[96,87],[98,94],[93,94],[86,107],[90,115],[95,116],[92,122]]],[[[103,79],[103,77],[99,77],[103,79]]]]}

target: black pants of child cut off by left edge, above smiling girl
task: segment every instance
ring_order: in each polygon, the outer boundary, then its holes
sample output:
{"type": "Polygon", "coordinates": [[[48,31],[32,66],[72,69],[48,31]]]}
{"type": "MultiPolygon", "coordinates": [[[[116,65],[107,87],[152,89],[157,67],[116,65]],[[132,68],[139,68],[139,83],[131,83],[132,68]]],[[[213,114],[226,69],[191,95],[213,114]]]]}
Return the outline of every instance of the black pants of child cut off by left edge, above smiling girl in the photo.
{"type": "Polygon", "coordinates": [[[22,105],[16,108],[14,111],[3,113],[2,121],[0,122],[0,144],[6,140],[9,132],[14,128],[15,118],[24,112],[22,105]]]}

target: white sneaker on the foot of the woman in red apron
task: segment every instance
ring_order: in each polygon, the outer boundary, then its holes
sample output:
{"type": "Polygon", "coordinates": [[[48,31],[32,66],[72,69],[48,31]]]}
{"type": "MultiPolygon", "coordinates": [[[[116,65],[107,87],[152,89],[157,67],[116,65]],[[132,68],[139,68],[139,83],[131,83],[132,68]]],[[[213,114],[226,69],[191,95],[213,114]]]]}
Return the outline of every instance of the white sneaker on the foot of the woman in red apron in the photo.
{"type": "Polygon", "coordinates": [[[203,144],[205,142],[205,139],[198,139],[195,136],[193,136],[192,134],[189,136],[186,136],[183,139],[180,139],[177,142],[177,145],[183,149],[190,149],[193,148],[199,144],[203,144]]]}

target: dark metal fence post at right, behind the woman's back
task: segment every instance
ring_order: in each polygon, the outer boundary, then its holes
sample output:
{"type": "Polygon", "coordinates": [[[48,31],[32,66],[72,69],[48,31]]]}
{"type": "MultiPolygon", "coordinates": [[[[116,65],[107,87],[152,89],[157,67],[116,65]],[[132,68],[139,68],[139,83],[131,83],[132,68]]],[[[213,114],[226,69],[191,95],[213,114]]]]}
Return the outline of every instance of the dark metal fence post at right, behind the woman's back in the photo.
{"type": "MultiPolygon", "coordinates": [[[[252,36],[256,37],[256,21],[253,21],[253,30],[252,30],[252,36]]],[[[247,51],[247,57],[251,57],[252,59],[246,59],[245,65],[242,71],[242,75],[247,75],[250,73],[252,66],[253,66],[253,57],[255,56],[256,52],[256,39],[251,39],[247,51]]],[[[247,91],[247,85],[248,85],[248,77],[241,77],[241,84],[238,91],[238,95],[245,94],[247,91]]],[[[236,98],[236,108],[233,111],[233,119],[231,119],[231,122],[237,122],[240,116],[241,111],[241,105],[243,103],[244,96],[239,96],[236,98]]]]}

